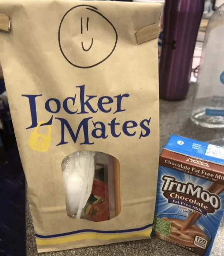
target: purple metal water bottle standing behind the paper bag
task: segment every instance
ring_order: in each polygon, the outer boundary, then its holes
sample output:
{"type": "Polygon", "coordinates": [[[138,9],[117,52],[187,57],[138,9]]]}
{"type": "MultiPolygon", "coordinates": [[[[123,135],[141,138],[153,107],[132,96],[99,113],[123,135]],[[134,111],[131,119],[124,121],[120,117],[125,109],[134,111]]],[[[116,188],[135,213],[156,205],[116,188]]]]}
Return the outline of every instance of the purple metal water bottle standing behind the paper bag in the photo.
{"type": "Polygon", "coordinates": [[[160,98],[182,100],[190,84],[190,70],[204,0],[166,0],[162,54],[159,66],[160,98]]]}

